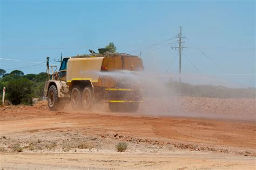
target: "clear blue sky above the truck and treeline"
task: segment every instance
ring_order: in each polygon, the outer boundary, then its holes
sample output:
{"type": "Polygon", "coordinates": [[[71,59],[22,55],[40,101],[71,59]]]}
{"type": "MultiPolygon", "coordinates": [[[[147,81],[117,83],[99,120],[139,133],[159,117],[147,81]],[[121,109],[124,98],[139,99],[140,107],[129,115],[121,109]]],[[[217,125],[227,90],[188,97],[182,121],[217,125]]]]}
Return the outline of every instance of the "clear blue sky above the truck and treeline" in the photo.
{"type": "Polygon", "coordinates": [[[145,69],[166,73],[171,66],[167,73],[177,74],[171,46],[178,44],[171,38],[180,25],[185,75],[255,87],[255,1],[2,0],[0,68],[45,72],[35,62],[46,56],[85,54],[114,42],[118,52],[141,51],[145,69]]]}

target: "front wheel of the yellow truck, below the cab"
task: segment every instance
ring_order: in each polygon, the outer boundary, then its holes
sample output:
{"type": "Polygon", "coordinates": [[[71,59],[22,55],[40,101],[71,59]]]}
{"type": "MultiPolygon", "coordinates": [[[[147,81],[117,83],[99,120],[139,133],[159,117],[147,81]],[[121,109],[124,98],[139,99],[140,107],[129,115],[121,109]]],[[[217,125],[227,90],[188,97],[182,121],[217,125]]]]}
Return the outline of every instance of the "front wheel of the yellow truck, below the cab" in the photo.
{"type": "Polygon", "coordinates": [[[47,95],[48,107],[52,111],[62,110],[65,103],[58,98],[58,91],[55,85],[50,86],[47,95]]]}

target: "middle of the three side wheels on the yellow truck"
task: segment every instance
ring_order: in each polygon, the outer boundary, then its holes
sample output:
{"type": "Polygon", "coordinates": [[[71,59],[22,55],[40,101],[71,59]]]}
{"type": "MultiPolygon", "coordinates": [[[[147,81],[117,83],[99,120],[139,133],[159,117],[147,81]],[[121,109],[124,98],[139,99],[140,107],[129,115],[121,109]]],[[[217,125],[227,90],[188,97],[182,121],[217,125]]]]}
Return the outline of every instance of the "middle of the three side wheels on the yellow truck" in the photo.
{"type": "Polygon", "coordinates": [[[78,110],[82,106],[82,94],[79,86],[72,88],[70,102],[73,109],[78,110]]]}

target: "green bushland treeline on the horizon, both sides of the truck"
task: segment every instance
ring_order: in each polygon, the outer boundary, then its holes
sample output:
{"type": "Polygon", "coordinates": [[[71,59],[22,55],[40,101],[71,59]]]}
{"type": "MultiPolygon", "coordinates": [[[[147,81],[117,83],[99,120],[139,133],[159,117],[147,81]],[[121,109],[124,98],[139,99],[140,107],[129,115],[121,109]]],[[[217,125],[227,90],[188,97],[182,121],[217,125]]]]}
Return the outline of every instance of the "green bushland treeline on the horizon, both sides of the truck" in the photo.
{"type": "MultiPolygon", "coordinates": [[[[42,99],[44,83],[48,74],[26,74],[21,70],[6,73],[0,69],[0,97],[2,99],[3,87],[6,87],[5,99],[11,104],[31,105],[32,98],[42,99]]],[[[192,96],[211,98],[255,98],[255,88],[227,88],[224,86],[193,85],[170,81],[165,84],[169,89],[165,96],[192,96]]],[[[145,91],[146,94],[149,91],[145,91]]],[[[150,94],[150,92],[149,92],[150,94]]],[[[2,102],[2,100],[0,100],[2,102]]],[[[1,104],[1,103],[0,103],[1,104]]]]}

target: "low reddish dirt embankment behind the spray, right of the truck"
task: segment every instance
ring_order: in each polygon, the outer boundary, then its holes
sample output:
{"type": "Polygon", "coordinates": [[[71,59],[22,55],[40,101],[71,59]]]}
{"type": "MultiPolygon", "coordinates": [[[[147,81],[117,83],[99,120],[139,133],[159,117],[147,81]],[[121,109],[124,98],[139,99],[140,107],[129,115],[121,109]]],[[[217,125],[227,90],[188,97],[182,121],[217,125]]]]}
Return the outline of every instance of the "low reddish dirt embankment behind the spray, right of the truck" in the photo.
{"type": "Polygon", "coordinates": [[[139,112],[150,116],[184,116],[255,120],[255,103],[255,98],[145,98],[145,103],[139,108],[139,112]]]}

